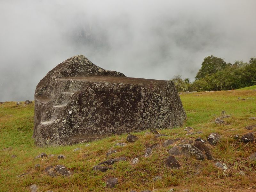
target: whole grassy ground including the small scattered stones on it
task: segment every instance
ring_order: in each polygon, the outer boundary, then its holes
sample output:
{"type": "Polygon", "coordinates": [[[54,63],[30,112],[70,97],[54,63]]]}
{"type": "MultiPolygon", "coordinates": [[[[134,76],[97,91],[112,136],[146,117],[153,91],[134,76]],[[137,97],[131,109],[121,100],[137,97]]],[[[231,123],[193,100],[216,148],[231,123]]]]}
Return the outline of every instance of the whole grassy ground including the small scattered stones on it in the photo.
{"type": "Polygon", "coordinates": [[[180,97],[183,127],[48,148],[31,139],[33,103],[1,103],[0,191],[255,191],[256,92],[180,97]]]}

